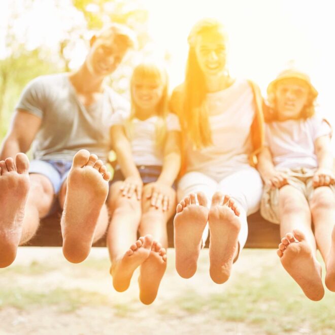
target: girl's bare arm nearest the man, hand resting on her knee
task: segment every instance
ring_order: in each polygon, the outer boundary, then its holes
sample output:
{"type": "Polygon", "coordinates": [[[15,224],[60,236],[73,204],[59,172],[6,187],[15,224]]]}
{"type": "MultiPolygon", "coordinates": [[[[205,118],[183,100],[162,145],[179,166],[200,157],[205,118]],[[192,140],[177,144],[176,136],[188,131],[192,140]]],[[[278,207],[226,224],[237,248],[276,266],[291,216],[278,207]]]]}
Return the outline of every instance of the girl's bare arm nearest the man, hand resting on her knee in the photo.
{"type": "Polygon", "coordinates": [[[122,195],[131,197],[134,192],[140,200],[142,196],[143,182],[139,171],[132,159],[130,143],[125,135],[124,127],[120,124],[114,125],[110,130],[112,148],[116,153],[117,161],[125,178],[121,187],[122,195]]]}

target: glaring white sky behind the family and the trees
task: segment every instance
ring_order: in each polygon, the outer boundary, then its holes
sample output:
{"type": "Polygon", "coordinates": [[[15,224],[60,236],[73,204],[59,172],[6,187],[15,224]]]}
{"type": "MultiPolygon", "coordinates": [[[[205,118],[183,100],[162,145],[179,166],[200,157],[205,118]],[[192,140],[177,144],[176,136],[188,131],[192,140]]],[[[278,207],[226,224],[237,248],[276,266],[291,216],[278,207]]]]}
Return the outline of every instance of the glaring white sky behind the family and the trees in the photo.
{"type": "MultiPolygon", "coordinates": [[[[9,1],[0,1],[0,27],[9,1]]],[[[19,4],[23,0],[16,1],[19,4]]],[[[74,13],[57,14],[53,0],[36,1],[41,4],[39,12],[19,18],[17,24],[18,29],[20,25],[30,26],[37,44],[52,45],[59,39],[68,21],[66,16],[78,22],[82,19],[74,13]]],[[[58,0],[58,3],[61,7],[69,1],[58,0]]],[[[232,76],[254,80],[265,93],[267,84],[290,60],[294,60],[297,68],[310,74],[319,91],[318,109],[335,126],[335,20],[332,1],[143,0],[143,3],[149,10],[149,31],[157,44],[156,50],[163,52],[167,49],[171,54],[169,73],[172,87],[183,80],[187,35],[191,26],[200,18],[215,17],[227,27],[232,76]]],[[[78,61],[74,59],[73,66],[81,61],[83,46],[76,55],[78,61]]],[[[333,143],[335,153],[335,141],[333,143]]]]}

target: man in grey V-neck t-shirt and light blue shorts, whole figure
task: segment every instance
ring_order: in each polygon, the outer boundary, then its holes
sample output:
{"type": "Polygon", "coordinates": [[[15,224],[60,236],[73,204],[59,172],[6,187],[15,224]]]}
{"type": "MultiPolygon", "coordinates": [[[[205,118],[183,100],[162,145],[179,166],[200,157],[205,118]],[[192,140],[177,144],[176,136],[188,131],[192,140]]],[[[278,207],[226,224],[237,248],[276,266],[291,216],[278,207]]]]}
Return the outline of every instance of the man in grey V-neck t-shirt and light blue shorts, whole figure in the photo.
{"type": "Polygon", "coordinates": [[[0,267],[14,261],[18,245],[58,202],[69,261],[84,260],[104,235],[108,124],[113,112],[128,108],[104,79],[132,45],[130,29],[113,23],[91,38],[79,70],[38,77],[24,89],[0,151],[0,267]],[[31,145],[29,168],[24,153],[31,145]]]}

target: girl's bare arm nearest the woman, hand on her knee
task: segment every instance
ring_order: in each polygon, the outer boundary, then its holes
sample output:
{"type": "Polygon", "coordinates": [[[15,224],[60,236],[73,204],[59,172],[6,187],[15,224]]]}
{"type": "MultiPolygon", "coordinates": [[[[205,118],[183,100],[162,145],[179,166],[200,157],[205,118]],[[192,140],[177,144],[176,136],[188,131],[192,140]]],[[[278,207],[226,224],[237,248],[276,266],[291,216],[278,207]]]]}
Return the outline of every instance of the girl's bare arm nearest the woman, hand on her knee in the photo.
{"type": "Polygon", "coordinates": [[[145,196],[151,198],[151,206],[163,211],[169,209],[169,194],[181,165],[180,131],[169,131],[166,135],[162,172],[155,183],[147,189],[145,196]]]}

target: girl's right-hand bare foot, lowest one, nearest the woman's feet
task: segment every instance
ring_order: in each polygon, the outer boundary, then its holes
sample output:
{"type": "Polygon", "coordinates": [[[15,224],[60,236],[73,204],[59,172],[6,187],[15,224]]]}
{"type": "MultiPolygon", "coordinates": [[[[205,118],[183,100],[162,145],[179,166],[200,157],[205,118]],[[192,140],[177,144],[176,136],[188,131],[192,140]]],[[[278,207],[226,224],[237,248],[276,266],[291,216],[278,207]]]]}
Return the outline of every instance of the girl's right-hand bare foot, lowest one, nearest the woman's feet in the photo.
{"type": "Polygon", "coordinates": [[[140,300],[143,304],[149,305],[155,300],[165,269],[166,250],[154,241],[149,257],[141,265],[139,286],[140,300]]]}

